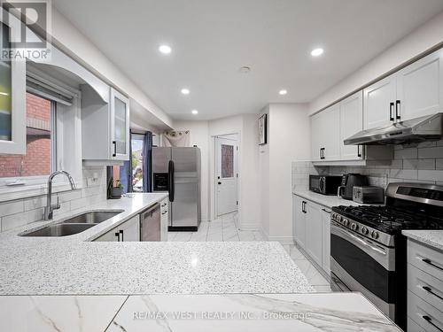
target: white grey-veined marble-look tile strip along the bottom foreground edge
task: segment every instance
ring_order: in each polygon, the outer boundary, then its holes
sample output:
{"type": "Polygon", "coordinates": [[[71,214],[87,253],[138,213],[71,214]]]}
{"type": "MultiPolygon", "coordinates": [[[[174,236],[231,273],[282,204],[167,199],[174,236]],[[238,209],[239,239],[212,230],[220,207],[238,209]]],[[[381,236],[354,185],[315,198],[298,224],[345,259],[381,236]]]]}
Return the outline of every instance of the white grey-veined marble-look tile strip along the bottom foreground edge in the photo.
{"type": "Polygon", "coordinates": [[[400,332],[360,293],[0,297],[0,306],[4,331],[400,332]]]}

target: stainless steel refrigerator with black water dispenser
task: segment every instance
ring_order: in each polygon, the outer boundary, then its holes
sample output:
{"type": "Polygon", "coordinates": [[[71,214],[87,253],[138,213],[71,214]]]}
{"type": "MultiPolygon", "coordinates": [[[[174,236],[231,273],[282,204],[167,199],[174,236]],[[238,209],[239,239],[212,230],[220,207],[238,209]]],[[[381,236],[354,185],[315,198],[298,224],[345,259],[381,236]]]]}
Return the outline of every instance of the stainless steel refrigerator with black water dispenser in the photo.
{"type": "Polygon", "coordinates": [[[169,194],[171,231],[197,231],[201,220],[200,149],[152,148],[152,191],[169,194]]]}

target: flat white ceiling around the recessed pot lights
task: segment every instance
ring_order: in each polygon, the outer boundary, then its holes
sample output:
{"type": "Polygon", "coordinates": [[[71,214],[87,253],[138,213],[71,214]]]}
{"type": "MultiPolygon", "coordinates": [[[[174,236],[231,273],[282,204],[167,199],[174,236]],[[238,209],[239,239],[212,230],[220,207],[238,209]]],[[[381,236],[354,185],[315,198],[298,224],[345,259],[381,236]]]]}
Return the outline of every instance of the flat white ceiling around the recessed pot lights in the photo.
{"type": "Polygon", "coordinates": [[[443,0],[53,0],[173,119],[308,102],[443,11],[443,0]],[[164,56],[158,47],[173,52],[164,56]],[[320,58],[310,50],[322,46],[320,58]],[[249,74],[239,73],[251,66],[249,74]],[[190,89],[189,96],[180,90],[190,89]],[[287,89],[284,97],[280,89],[287,89]],[[198,115],[191,115],[192,109],[198,115]]]}

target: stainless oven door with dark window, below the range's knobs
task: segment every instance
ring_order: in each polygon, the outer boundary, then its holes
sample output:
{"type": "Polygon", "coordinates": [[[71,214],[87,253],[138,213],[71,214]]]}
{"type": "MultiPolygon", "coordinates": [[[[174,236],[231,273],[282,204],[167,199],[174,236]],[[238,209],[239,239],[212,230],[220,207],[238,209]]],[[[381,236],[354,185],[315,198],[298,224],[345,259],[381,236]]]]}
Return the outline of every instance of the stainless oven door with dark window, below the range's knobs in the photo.
{"type": "Polygon", "coordinates": [[[333,290],[360,291],[394,317],[395,251],[330,220],[330,271],[333,290]]]}

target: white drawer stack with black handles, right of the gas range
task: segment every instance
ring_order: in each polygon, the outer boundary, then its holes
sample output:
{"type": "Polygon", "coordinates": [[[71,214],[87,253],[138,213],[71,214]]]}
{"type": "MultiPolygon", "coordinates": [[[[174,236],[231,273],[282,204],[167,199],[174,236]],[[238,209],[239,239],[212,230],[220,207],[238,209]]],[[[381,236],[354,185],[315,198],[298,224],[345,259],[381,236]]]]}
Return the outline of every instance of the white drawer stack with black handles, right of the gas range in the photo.
{"type": "Polygon", "coordinates": [[[408,240],[408,331],[443,330],[443,251],[408,240]]]}

